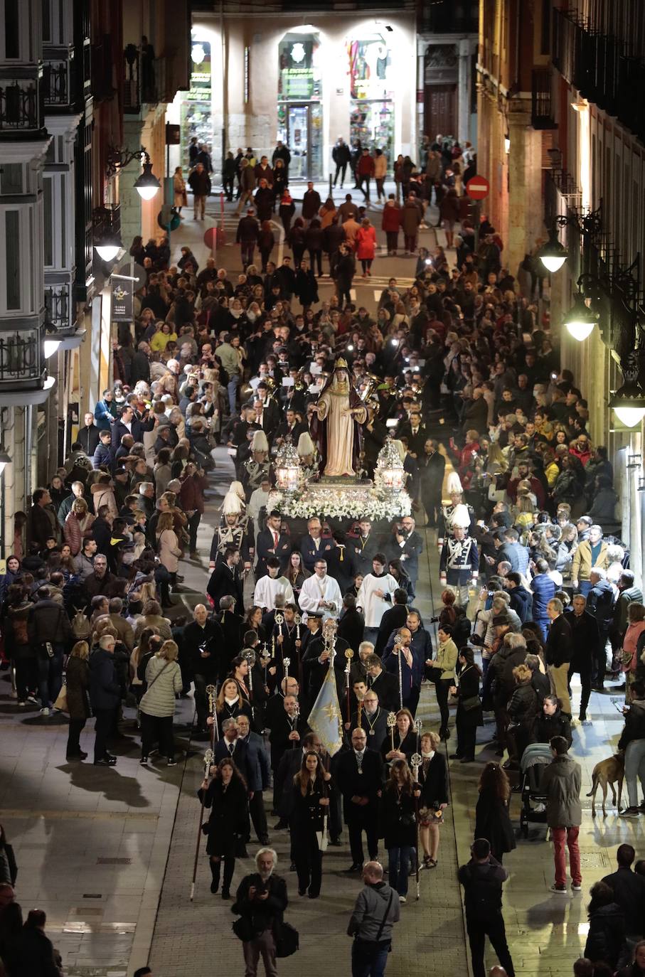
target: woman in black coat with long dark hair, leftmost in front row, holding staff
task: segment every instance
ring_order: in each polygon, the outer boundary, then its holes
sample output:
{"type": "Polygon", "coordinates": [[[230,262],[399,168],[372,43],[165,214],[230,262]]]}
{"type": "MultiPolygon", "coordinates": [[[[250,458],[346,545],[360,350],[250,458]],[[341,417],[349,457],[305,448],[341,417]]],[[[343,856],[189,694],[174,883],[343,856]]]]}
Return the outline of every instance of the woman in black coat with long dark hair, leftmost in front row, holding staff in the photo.
{"type": "Polygon", "coordinates": [[[212,882],[210,891],[220,887],[220,866],[224,859],[222,899],[231,898],[231,879],[236,868],[236,849],[249,831],[248,796],[246,784],[232,759],[224,757],[215,769],[210,784],[204,780],[197,790],[197,797],[204,807],[210,808],[210,818],[205,828],[208,835],[206,853],[209,856],[212,882]]]}

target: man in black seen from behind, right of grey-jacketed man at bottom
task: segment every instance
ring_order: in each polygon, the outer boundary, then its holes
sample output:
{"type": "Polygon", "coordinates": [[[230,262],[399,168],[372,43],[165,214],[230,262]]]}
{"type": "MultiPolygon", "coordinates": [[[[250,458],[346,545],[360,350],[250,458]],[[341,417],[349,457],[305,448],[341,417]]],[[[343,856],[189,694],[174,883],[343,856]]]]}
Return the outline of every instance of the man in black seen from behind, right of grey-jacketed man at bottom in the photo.
{"type": "Polygon", "coordinates": [[[464,891],[473,974],[485,977],[484,950],[488,936],[508,977],[515,977],[501,914],[501,886],[508,878],[508,872],[491,855],[491,845],[486,838],[476,838],[470,853],[470,862],[460,867],[458,878],[464,891]]]}

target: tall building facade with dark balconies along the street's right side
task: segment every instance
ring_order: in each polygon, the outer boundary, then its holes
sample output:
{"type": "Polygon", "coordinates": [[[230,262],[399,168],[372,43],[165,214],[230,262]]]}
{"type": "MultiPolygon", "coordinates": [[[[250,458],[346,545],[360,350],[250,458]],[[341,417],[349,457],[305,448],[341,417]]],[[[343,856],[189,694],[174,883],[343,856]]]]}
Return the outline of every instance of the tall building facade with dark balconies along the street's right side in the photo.
{"type": "Polygon", "coordinates": [[[623,382],[621,361],[634,347],[645,384],[642,329],[635,328],[625,351],[624,330],[609,302],[583,342],[561,323],[582,272],[609,280],[632,266],[634,303],[642,301],[645,131],[638,106],[645,70],[639,58],[625,55],[643,51],[645,11],[629,0],[581,0],[576,10],[561,0],[480,2],[478,169],[491,182],[484,209],[502,236],[502,261],[512,275],[555,219],[569,218],[560,232],[569,259],[550,276],[539,312],[550,319],[562,365],[588,400],[592,442],[609,448],[622,536],[639,582],[642,426],[625,429],[609,402],[623,382]],[[590,211],[598,211],[600,227],[592,244],[575,226],[590,211]]]}

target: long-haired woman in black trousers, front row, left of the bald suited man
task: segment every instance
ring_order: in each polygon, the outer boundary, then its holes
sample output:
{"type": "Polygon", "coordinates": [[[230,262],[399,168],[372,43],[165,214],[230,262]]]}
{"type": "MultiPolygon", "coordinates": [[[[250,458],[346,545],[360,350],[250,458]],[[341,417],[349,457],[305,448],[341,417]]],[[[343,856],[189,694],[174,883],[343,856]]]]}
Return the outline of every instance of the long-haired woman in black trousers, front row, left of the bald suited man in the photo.
{"type": "Polygon", "coordinates": [[[331,775],[323,769],[318,753],[309,750],[293,778],[292,808],[289,815],[291,851],[298,872],[298,895],[318,899],[323,880],[324,816],[329,809],[327,782],[331,775]]]}

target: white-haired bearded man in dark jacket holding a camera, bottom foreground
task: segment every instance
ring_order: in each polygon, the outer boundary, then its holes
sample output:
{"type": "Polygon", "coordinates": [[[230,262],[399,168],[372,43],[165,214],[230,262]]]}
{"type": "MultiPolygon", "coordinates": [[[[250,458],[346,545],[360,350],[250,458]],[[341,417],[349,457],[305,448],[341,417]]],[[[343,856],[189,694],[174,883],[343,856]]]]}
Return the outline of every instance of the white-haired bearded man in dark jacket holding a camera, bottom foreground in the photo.
{"type": "Polygon", "coordinates": [[[274,933],[288,900],[286,882],[275,871],[277,865],[274,849],[261,848],[255,856],[256,871],[244,875],[237,886],[232,912],[241,917],[234,926],[242,941],[245,977],[256,977],[260,956],[267,977],[278,974],[274,933]]]}

